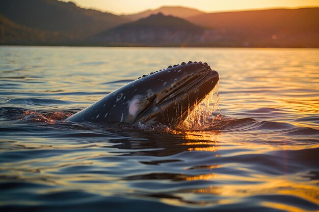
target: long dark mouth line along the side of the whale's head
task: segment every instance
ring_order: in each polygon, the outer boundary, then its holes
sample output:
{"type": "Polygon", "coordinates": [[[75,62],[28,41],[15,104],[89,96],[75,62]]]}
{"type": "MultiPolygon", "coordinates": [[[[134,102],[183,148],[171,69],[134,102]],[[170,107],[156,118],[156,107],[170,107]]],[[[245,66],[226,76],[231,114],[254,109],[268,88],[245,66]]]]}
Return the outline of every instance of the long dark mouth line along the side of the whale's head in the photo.
{"type": "MultiPolygon", "coordinates": [[[[206,69],[203,69],[202,71],[205,71],[205,70],[206,69]]],[[[156,102],[156,104],[154,104],[154,105],[159,105],[159,104],[162,104],[164,102],[168,102],[168,101],[170,101],[170,100],[172,100],[172,99],[174,99],[182,94],[187,93],[189,90],[192,90],[199,83],[201,83],[202,80],[207,77],[207,75],[209,75],[210,71],[211,70],[208,70],[208,72],[206,74],[200,74],[201,72],[199,72],[194,77],[191,77],[190,79],[188,79],[187,81],[182,83],[180,86],[172,89],[171,92],[169,92],[164,98],[162,98],[160,101],[156,102]]]]}

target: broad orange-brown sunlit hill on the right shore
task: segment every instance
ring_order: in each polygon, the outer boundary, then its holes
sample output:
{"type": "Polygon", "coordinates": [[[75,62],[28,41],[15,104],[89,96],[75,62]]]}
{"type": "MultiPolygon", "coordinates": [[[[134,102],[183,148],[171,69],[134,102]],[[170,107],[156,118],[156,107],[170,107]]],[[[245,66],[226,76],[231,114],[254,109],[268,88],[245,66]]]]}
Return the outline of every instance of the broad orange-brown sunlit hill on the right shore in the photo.
{"type": "Polygon", "coordinates": [[[319,47],[319,8],[200,14],[187,18],[238,46],[319,47]]]}

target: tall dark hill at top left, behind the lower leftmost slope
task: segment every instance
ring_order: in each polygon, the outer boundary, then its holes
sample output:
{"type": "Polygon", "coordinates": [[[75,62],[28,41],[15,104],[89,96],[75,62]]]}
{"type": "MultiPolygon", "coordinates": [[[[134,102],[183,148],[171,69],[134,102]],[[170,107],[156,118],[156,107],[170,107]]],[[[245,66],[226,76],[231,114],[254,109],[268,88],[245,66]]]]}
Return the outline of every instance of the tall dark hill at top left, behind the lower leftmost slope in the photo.
{"type": "Polygon", "coordinates": [[[77,7],[57,0],[0,1],[0,13],[19,25],[51,32],[69,33],[82,39],[128,22],[125,17],[77,7]]]}

